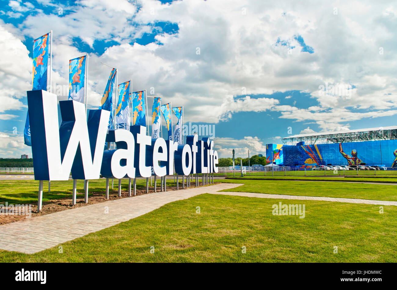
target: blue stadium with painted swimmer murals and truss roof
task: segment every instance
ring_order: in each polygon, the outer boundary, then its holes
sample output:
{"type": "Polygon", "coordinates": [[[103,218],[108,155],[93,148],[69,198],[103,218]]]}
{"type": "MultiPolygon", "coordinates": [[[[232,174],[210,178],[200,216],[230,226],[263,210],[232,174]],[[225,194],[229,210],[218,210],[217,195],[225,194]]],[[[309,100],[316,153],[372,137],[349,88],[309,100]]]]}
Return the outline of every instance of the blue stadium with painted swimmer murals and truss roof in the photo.
{"type": "Polygon", "coordinates": [[[383,165],[397,168],[397,126],[298,134],[267,144],[267,163],[291,167],[383,165]]]}

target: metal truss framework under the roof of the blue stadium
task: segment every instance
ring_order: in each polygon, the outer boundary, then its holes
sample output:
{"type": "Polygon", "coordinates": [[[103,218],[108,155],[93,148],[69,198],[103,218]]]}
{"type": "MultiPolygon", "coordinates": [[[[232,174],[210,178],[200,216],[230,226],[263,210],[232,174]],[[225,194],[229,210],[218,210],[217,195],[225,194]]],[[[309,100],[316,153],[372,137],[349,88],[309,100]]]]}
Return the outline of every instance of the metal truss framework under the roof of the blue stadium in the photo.
{"type": "Polygon", "coordinates": [[[361,129],[347,132],[333,132],[320,134],[303,134],[285,137],[282,139],[285,145],[296,145],[298,142],[304,141],[307,145],[312,144],[329,144],[342,142],[360,142],[360,141],[376,141],[376,140],[396,140],[397,127],[387,127],[385,129],[361,129]]]}

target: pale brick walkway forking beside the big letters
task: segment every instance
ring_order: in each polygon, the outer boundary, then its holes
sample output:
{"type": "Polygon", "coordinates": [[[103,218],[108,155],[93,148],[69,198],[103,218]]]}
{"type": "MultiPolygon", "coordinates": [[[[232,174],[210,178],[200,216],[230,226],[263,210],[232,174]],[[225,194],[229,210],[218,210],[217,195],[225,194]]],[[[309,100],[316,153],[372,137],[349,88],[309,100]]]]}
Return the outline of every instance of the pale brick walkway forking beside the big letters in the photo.
{"type": "Polygon", "coordinates": [[[60,243],[77,237],[97,232],[104,228],[125,222],[141,216],[169,202],[187,199],[202,193],[219,195],[238,195],[268,199],[325,200],[333,202],[350,202],[362,204],[395,205],[395,201],[344,199],[332,197],[304,197],[296,195],[270,195],[263,193],[219,192],[222,189],[232,189],[241,184],[222,183],[206,187],[181,189],[149,193],[137,197],[128,197],[91,204],[80,208],[46,214],[4,224],[0,226],[0,249],[19,251],[22,253],[37,253],[54,247],[60,243]],[[108,210],[108,213],[105,213],[108,210]]]}

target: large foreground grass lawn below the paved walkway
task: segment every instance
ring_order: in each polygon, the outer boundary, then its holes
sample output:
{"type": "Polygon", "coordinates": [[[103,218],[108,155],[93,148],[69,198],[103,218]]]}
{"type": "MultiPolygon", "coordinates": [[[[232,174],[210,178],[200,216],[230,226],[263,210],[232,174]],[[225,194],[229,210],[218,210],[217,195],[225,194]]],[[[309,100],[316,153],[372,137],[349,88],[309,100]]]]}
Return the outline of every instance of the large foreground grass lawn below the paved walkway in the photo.
{"type": "Polygon", "coordinates": [[[203,194],[0,262],[397,262],[396,225],[396,206],[203,194]],[[279,201],[304,202],[305,218],[272,215],[279,201]]]}

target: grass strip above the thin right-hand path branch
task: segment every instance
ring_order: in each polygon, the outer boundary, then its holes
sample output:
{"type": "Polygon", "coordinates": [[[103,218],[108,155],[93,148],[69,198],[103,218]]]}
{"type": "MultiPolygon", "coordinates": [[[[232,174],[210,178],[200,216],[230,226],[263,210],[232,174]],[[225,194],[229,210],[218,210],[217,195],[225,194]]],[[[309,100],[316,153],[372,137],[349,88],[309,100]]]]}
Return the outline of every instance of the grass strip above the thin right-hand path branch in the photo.
{"type": "Polygon", "coordinates": [[[397,201],[396,185],[379,183],[345,183],[288,180],[223,179],[222,182],[244,183],[223,191],[253,192],[312,197],[344,197],[349,199],[374,199],[397,201]]]}

